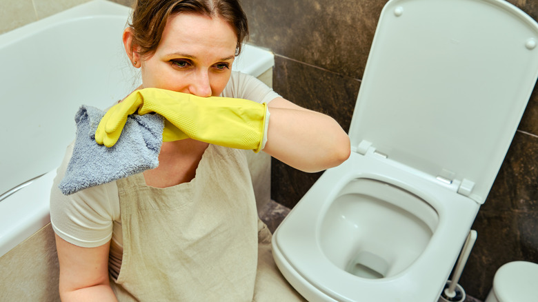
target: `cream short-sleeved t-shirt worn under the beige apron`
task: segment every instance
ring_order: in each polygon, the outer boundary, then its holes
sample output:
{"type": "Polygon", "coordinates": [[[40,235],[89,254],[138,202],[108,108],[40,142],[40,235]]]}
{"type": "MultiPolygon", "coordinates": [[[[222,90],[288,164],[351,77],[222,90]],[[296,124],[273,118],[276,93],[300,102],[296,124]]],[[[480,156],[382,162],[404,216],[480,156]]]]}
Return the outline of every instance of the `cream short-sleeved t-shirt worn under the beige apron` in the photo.
{"type": "MultiPolygon", "coordinates": [[[[255,77],[232,72],[221,97],[269,103],[280,96],[255,77]]],[[[116,182],[97,185],[68,196],[63,195],[58,188],[72,156],[73,145],[74,143],[68,145],[66,156],[57,170],[52,185],[50,193],[52,228],[63,240],[83,248],[94,248],[112,239],[110,252],[120,252],[123,237],[116,182]]]]}

